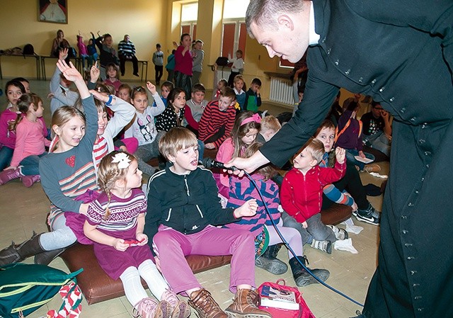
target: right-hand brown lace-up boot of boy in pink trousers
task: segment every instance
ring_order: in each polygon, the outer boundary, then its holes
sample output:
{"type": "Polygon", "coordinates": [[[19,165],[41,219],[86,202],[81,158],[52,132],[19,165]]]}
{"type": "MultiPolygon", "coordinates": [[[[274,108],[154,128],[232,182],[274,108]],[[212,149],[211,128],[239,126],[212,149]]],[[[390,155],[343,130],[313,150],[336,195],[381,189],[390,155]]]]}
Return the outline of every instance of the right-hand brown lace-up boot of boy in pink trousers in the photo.
{"type": "Polygon", "coordinates": [[[251,289],[238,289],[234,301],[225,312],[236,318],[272,318],[272,315],[258,309],[258,294],[251,289]]]}

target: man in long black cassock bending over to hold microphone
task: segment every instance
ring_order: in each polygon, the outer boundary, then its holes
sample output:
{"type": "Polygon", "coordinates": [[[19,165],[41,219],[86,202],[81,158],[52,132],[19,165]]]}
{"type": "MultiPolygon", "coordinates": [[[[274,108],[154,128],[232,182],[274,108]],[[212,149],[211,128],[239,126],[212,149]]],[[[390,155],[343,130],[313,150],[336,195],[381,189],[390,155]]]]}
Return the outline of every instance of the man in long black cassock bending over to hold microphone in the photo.
{"type": "Polygon", "coordinates": [[[252,0],[246,25],[270,57],[297,62],[310,45],[309,74],[294,118],[226,166],[282,165],[340,87],[372,96],[394,115],[394,151],[362,317],[453,317],[453,2],[252,0]]]}

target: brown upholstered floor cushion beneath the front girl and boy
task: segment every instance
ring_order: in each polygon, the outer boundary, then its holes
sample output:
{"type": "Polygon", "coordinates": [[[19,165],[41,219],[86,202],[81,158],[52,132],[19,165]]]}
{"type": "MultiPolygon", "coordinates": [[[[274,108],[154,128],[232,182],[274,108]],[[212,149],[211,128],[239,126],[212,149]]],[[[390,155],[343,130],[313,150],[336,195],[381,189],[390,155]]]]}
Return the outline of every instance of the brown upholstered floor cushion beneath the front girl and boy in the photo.
{"type": "MultiPolygon", "coordinates": [[[[99,266],[93,246],[76,244],[67,249],[61,257],[71,272],[84,268],[84,271],[77,275],[77,283],[88,305],[125,295],[121,280],[113,280],[99,266]]],[[[228,264],[231,256],[190,255],[186,259],[192,271],[200,273],[228,264]]],[[[142,284],[146,287],[144,280],[142,284]]]]}

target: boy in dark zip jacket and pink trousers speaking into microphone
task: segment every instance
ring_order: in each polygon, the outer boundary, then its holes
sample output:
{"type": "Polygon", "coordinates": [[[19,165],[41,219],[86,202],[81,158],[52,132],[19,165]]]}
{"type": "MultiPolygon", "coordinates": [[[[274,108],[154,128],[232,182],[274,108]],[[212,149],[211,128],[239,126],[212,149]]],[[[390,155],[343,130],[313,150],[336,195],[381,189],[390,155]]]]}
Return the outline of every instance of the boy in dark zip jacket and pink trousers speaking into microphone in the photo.
{"type": "Polygon", "coordinates": [[[189,296],[189,305],[200,317],[271,318],[250,301],[258,299],[252,290],[253,234],[216,227],[255,215],[256,200],[248,200],[237,209],[222,209],[211,172],[197,167],[197,137],[190,130],[172,128],[159,141],[159,150],[171,164],[149,178],[145,233],[154,241],[154,252],[168,284],[175,293],[189,296]],[[185,260],[189,254],[232,255],[229,289],[236,296],[225,310],[230,316],[198,283],[185,260]]]}

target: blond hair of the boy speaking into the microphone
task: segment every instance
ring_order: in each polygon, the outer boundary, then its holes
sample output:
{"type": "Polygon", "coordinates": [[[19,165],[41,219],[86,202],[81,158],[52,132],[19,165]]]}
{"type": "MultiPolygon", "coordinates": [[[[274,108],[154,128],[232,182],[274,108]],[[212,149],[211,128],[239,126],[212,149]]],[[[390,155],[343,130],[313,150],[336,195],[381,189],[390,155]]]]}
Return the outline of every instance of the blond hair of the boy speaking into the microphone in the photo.
{"type": "Polygon", "coordinates": [[[197,136],[184,127],[173,127],[159,140],[159,152],[168,160],[168,156],[176,156],[176,152],[188,147],[197,146],[197,136]]]}

